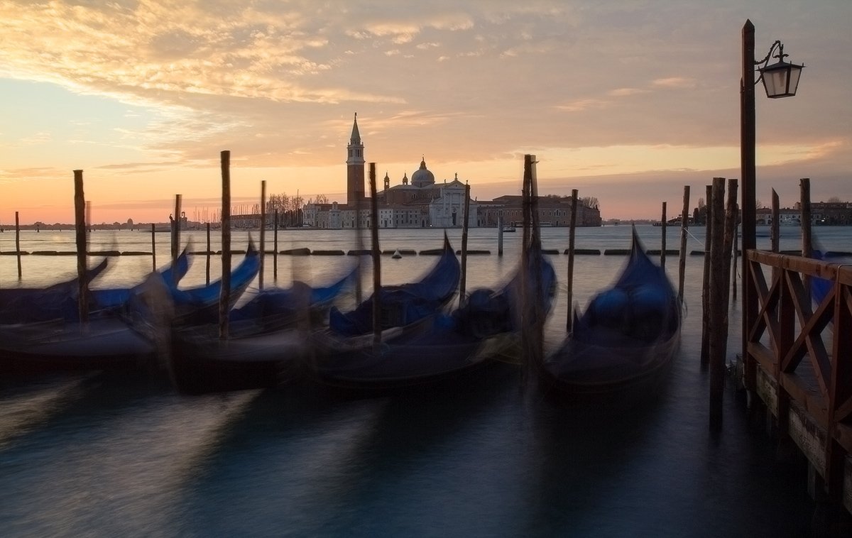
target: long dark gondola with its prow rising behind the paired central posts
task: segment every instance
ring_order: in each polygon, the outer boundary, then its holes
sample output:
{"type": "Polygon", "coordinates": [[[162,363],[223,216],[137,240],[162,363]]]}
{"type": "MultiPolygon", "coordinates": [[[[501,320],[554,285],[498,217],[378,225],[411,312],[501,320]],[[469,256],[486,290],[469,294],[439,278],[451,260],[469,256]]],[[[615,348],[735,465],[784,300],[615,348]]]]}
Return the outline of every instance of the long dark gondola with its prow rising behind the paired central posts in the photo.
{"type": "MultiPolygon", "coordinates": [[[[537,280],[550,311],[556,288],[556,272],[540,249],[527,260],[527,269],[538,267],[537,280]],[[538,256],[538,263],[533,263],[538,256]]],[[[450,314],[435,312],[407,327],[386,329],[380,345],[372,334],[346,341],[348,346],[325,346],[318,351],[314,373],[326,386],[361,394],[432,387],[454,381],[493,363],[495,341],[521,328],[521,271],[502,288],[476,289],[464,305],[450,314]]]]}

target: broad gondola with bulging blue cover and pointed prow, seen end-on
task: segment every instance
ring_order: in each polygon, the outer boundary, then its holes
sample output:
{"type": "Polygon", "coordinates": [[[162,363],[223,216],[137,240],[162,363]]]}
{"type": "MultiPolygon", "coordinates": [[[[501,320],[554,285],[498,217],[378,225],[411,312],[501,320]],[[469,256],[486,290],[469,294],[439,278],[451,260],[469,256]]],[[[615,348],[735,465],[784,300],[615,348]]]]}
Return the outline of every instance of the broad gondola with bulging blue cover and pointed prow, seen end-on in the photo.
{"type": "Polygon", "coordinates": [[[573,332],[545,358],[542,379],[573,399],[652,397],[676,356],[680,333],[675,291],[634,228],[623,272],[582,316],[574,312],[573,332]]]}

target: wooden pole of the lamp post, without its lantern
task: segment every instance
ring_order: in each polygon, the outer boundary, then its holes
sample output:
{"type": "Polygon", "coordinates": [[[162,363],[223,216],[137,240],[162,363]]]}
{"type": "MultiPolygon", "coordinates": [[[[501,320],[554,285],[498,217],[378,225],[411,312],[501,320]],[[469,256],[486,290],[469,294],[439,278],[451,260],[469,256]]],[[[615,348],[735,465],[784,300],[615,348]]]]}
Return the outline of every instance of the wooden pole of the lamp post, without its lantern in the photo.
{"type": "Polygon", "coordinates": [[[755,174],[754,25],[746,20],[742,30],[742,77],[740,78],[740,179],[742,180],[742,352],[746,363],[746,388],[755,389],[757,364],[748,352],[749,331],[757,322],[757,287],[750,277],[748,251],[757,248],[757,197],[755,174]]]}

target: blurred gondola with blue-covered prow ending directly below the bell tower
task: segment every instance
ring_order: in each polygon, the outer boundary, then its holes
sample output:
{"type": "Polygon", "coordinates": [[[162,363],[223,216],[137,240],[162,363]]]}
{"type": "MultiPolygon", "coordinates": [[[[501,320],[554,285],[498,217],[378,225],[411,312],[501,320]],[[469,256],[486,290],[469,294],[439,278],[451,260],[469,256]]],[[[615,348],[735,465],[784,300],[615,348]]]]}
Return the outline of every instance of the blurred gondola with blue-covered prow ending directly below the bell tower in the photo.
{"type": "Polygon", "coordinates": [[[264,289],[229,313],[227,339],[218,324],[171,331],[171,381],[180,392],[201,394],[285,384],[306,371],[308,331],[325,321],[333,300],[353,282],[348,272],[325,287],[294,282],[264,289]]]}

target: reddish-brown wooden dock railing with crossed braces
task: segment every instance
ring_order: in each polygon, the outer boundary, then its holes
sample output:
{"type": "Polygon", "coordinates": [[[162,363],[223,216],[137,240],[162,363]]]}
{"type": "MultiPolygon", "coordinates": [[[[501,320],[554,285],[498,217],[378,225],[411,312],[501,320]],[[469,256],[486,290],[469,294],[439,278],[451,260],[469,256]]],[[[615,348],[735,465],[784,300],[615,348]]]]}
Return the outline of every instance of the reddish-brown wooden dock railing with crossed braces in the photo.
{"type": "Polygon", "coordinates": [[[746,320],[746,385],[852,512],[852,266],[746,253],[757,318],[746,320]],[[767,278],[769,276],[769,278],[767,278]],[[834,283],[819,305],[809,281],[834,283]]]}

